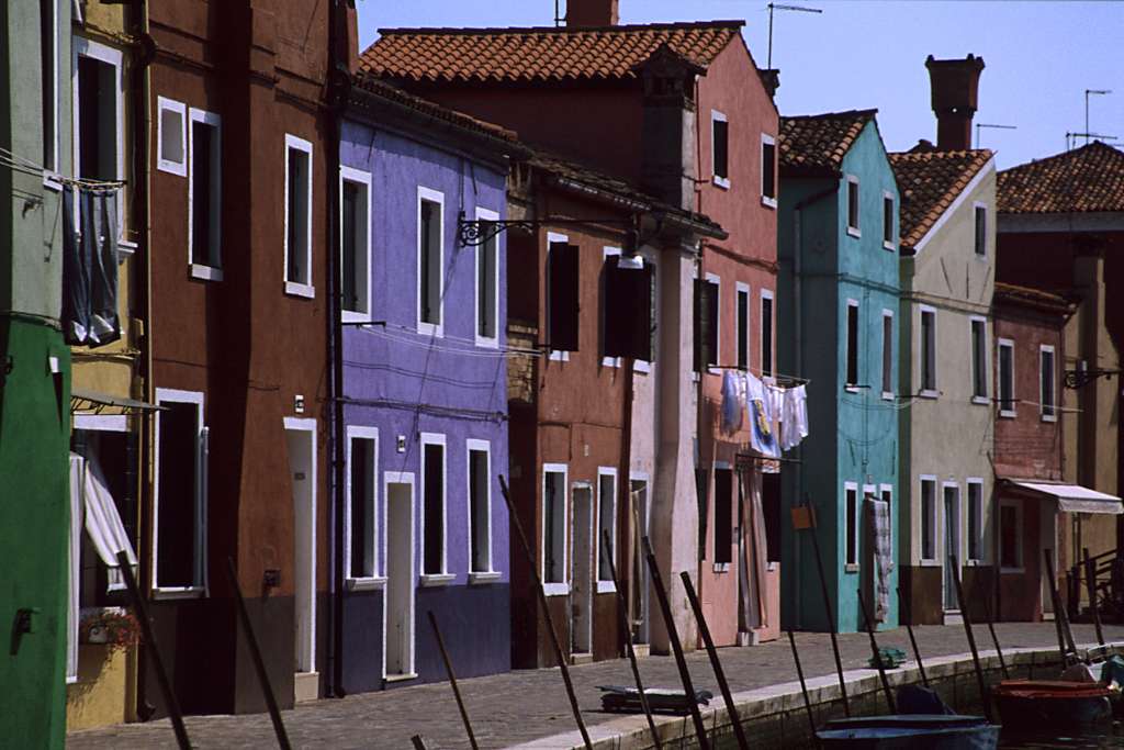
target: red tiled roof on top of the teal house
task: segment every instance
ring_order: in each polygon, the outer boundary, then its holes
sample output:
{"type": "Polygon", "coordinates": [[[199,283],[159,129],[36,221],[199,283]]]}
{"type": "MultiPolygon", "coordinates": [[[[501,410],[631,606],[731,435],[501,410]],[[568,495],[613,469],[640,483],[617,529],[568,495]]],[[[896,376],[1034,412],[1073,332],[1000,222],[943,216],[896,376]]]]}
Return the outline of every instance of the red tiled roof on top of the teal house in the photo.
{"type": "Polygon", "coordinates": [[[877,109],[780,118],[780,169],[787,174],[839,172],[843,156],[877,109]]]}

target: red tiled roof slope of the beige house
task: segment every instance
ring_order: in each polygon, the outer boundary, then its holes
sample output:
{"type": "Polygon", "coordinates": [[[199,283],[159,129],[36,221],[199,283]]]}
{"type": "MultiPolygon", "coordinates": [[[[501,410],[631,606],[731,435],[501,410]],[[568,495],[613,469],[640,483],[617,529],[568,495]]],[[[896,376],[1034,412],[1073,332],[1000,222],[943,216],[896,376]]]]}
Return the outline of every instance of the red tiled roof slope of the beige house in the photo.
{"type": "Polygon", "coordinates": [[[901,195],[900,244],[908,251],[990,161],[991,152],[914,150],[887,156],[901,195]]]}

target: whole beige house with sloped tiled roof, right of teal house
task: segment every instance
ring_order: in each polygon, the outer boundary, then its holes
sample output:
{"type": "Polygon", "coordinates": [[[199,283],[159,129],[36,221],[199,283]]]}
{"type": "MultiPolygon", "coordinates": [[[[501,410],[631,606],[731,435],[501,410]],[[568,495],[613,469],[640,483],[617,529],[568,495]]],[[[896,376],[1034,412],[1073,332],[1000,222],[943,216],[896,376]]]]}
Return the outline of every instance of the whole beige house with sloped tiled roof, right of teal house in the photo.
{"type": "Polygon", "coordinates": [[[901,193],[901,594],[914,623],[941,623],[960,615],[950,555],[972,600],[994,564],[996,169],[989,151],[924,142],[890,163],[901,193]]]}

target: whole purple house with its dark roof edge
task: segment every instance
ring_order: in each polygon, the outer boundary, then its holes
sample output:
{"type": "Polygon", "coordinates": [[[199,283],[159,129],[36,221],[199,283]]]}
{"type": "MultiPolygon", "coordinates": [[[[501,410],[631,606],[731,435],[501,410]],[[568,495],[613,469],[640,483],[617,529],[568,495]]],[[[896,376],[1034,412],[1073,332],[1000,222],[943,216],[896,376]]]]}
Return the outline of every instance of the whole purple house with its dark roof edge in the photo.
{"type": "Polygon", "coordinates": [[[341,134],[346,693],[510,668],[507,264],[515,135],[362,75],[341,134]],[[487,225],[483,225],[487,227],[487,225]]]}

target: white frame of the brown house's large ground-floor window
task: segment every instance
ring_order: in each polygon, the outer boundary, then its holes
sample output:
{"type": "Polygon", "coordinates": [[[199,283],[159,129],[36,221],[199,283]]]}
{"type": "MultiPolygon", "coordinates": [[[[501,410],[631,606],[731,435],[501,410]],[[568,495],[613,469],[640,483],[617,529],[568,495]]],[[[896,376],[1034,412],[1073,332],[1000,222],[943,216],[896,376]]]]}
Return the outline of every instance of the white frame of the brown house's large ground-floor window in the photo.
{"type": "Polygon", "coordinates": [[[152,479],[152,597],[155,599],[200,598],[207,595],[207,458],[208,427],[203,414],[205,397],[201,391],[157,388],[156,404],[194,404],[198,408],[198,440],[196,443],[196,576],[192,586],[160,586],[160,421],[156,412],[154,428],[153,479],[152,479]]]}

